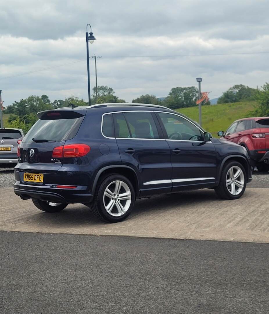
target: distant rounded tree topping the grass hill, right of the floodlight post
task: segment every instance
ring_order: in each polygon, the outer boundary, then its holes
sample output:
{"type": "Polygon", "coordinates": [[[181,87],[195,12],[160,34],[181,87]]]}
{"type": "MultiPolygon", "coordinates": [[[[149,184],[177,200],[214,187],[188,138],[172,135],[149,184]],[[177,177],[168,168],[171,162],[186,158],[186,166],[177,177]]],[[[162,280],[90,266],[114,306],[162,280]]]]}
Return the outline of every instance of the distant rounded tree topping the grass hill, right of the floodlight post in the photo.
{"type": "Polygon", "coordinates": [[[226,104],[232,102],[239,102],[242,100],[254,100],[256,94],[256,89],[250,88],[248,86],[238,84],[229,88],[223,93],[218,99],[218,104],[226,104]]]}

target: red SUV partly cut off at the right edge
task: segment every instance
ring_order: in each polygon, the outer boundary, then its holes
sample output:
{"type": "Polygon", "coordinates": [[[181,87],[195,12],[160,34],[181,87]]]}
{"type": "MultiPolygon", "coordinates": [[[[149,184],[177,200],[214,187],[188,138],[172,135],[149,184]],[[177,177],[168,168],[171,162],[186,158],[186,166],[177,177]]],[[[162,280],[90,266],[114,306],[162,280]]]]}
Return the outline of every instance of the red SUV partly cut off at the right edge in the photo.
{"type": "Polygon", "coordinates": [[[269,117],[245,118],[233,122],[218,136],[244,146],[258,171],[269,171],[269,117]]]}

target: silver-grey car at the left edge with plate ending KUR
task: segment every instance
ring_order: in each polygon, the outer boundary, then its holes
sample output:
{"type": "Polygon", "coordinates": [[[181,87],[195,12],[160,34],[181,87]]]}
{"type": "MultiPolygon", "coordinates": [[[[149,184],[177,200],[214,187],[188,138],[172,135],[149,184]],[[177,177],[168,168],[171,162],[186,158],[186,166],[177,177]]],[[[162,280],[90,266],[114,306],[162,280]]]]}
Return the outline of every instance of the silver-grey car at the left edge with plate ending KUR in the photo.
{"type": "Polygon", "coordinates": [[[24,138],[21,129],[0,129],[0,166],[17,164],[17,148],[24,138]]]}

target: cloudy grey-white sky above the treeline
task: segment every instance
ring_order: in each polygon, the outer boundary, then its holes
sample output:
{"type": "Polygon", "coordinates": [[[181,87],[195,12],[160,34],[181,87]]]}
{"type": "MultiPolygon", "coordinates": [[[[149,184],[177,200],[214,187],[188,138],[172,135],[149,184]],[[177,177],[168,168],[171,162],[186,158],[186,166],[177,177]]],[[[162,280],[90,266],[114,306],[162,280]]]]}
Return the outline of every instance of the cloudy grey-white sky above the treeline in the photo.
{"type": "MultiPolygon", "coordinates": [[[[87,99],[87,23],[97,38],[90,55],[102,56],[98,85],[126,101],[165,97],[196,77],[211,98],[234,84],[260,86],[269,81],[268,12],[268,0],[2,1],[4,105],[29,95],[87,99]]],[[[90,67],[94,87],[93,59],[90,67]]]]}

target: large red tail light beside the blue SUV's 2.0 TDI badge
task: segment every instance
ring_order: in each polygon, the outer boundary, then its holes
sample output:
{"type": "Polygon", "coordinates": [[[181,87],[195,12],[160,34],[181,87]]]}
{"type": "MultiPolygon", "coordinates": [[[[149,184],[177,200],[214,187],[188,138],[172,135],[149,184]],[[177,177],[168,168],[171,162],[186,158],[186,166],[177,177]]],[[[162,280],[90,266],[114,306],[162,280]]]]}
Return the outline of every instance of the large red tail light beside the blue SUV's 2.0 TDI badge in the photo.
{"type": "Polygon", "coordinates": [[[64,146],[57,146],[52,151],[52,157],[83,157],[90,151],[89,145],[86,144],[68,144],[64,146]]]}

